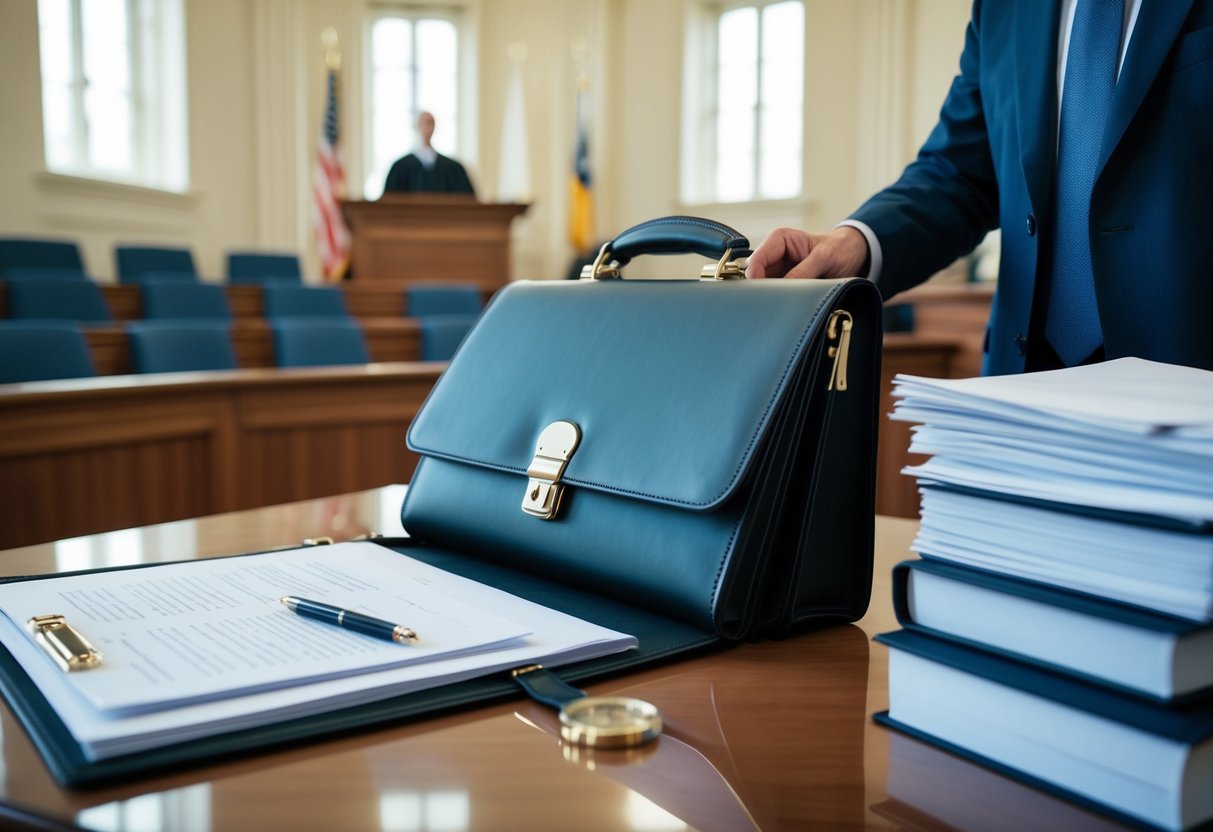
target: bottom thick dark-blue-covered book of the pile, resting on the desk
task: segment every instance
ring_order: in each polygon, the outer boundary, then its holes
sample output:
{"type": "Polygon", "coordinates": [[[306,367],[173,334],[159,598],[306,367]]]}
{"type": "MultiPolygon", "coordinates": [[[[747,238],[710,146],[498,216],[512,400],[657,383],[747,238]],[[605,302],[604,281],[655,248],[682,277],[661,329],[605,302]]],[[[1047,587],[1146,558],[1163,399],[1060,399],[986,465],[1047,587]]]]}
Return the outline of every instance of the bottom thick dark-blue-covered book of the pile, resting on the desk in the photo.
{"type": "Polygon", "coordinates": [[[1164,707],[923,633],[877,640],[877,722],[1134,825],[1213,820],[1213,702],[1164,707]]]}

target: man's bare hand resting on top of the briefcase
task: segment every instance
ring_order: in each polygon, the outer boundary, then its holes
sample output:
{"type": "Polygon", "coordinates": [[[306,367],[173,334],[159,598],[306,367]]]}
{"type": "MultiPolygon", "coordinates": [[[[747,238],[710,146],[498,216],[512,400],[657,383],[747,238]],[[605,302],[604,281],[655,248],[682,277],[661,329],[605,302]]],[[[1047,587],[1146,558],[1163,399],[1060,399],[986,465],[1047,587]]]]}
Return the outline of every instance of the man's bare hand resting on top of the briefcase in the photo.
{"type": "Polygon", "coordinates": [[[776,228],[746,267],[747,278],[853,278],[867,261],[867,240],[842,226],[825,234],[776,228]]]}

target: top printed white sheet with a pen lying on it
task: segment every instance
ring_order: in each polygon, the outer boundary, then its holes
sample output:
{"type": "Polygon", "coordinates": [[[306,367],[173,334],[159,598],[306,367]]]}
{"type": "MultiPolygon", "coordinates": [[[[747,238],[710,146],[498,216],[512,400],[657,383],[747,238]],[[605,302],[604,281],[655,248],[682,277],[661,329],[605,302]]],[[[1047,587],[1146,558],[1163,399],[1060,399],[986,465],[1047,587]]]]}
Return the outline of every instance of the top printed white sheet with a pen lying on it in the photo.
{"type": "Polygon", "coordinates": [[[0,609],[18,625],[61,614],[84,633],[104,661],[68,682],[114,714],[449,659],[530,633],[435,589],[422,565],[391,553],[334,558],[317,546],[10,583],[0,586],[0,609]],[[283,595],[389,620],[421,638],[404,645],[304,619],[283,595]]]}

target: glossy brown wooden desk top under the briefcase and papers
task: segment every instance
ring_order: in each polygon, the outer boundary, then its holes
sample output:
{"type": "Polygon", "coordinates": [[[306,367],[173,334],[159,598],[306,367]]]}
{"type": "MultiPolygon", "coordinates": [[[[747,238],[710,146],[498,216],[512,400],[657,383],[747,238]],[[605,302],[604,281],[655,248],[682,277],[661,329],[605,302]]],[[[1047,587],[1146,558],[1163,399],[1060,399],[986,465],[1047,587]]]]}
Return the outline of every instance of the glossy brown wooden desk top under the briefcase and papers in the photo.
{"type": "MultiPolygon", "coordinates": [[[[0,553],[19,575],[398,534],[403,486],[0,553]]],[[[854,626],[742,644],[587,685],[661,708],[639,752],[563,748],[524,699],[96,791],[55,785],[0,708],[0,827],[95,830],[1118,828],[871,722],[888,705],[893,564],[912,520],[878,518],[854,626]]]]}

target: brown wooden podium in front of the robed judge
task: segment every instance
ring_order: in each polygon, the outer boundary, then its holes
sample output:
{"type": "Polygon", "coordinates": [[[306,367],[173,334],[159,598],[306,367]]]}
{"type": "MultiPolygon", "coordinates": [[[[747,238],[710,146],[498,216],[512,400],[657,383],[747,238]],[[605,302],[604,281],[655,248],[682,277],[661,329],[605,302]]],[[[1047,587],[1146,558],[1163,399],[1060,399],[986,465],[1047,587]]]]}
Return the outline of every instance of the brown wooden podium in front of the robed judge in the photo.
{"type": "Polygon", "coordinates": [[[463,194],[344,203],[352,277],[359,283],[474,283],[492,292],[509,281],[509,223],[528,207],[463,194]]]}

